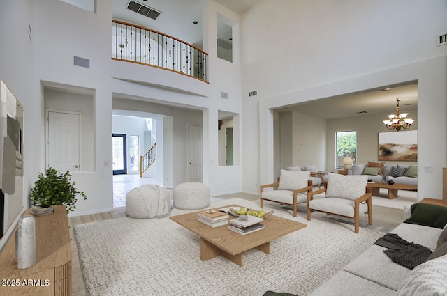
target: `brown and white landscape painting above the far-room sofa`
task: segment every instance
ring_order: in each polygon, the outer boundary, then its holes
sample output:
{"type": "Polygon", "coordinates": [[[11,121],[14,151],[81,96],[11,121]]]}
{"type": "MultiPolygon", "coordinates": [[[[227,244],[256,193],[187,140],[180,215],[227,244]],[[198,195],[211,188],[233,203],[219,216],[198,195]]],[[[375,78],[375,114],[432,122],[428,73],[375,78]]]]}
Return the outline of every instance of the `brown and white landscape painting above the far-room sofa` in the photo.
{"type": "Polygon", "coordinates": [[[418,131],[379,132],[379,160],[418,161],[418,131]]]}

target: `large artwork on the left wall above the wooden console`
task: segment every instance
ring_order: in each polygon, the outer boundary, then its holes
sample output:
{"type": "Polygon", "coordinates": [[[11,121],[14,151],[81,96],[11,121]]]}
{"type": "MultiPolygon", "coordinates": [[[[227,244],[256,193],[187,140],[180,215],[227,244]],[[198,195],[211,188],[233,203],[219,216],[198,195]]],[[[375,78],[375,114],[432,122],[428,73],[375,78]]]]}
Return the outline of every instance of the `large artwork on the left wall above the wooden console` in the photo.
{"type": "Polygon", "coordinates": [[[0,238],[24,208],[23,107],[0,79],[0,238]]]}

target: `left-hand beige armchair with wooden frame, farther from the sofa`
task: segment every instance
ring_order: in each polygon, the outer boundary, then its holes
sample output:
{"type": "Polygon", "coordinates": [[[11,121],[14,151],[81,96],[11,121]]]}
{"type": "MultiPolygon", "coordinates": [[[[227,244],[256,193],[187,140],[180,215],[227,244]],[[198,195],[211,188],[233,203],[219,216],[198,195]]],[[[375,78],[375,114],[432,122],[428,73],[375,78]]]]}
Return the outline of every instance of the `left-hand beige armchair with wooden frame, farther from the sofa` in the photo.
{"type": "Polygon", "coordinates": [[[292,205],[293,217],[296,217],[298,203],[307,203],[307,193],[312,192],[312,180],[309,180],[309,177],[310,172],[308,171],[281,170],[278,182],[261,185],[259,194],[261,208],[264,208],[264,201],[292,205]],[[273,190],[268,190],[270,187],[273,190]],[[277,189],[274,187],[277,187],[277,189]]]}

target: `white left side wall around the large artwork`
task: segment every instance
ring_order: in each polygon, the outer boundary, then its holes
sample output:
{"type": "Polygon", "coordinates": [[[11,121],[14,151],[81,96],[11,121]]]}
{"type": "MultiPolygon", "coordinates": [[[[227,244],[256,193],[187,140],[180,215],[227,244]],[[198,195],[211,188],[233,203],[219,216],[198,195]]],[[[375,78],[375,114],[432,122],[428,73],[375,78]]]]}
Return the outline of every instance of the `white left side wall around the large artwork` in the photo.
{"type": "MultiPolygon", "coordinates": [[[[24,107],[24,196],[23,204],[28,205],[29,187],[34,185],[30,178],[33,172],[32,151],[38,145],[33,134],[35,102],[33,95],[33,43],[29,39],[29,22],[32,22],[31,0],[0,1],[0,77],[5,81],[17,100],[24,107]],[[15,59],[20,57],[20,59],[15,59]]],[[[32,24],[31,24],[32,26],[32,24]]],[[[32,29],[31,29],[32,31],[32,29]]],[[[24,212],[23,208],[13,224],[0,240],[0,251],[12,234],[15,225],[24,212]]],[[[6,229],[5,229],[6,231],[6,229]]]]}

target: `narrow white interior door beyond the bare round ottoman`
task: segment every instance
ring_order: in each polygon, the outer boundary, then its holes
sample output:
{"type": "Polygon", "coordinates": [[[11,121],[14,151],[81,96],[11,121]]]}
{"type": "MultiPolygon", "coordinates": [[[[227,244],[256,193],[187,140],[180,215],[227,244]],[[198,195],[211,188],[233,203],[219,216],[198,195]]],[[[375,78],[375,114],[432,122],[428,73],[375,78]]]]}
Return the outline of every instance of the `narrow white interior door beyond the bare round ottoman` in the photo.
{"type": "Polygon", "coordinates": [[[202,176],[202,127],[200,125],[188,125],[189,145],[189,182],[203,182],[202,176]]]}

